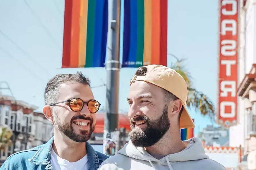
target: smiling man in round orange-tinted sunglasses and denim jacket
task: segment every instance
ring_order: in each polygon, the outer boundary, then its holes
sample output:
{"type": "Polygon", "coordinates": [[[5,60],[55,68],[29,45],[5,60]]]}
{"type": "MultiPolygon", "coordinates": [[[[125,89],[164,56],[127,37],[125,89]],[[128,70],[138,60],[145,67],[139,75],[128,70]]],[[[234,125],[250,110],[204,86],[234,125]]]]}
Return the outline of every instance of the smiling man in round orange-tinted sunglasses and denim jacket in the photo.
{"type": "Polygon", "coordinates": [[[109,156],[87,142],[100,108],[90,80],[81,72],[58,74],[47,83],[44,101],[44,116],[53,124],[54,137],[44,145],[9,156],[0,169],[98,169],[109,156]]]}

